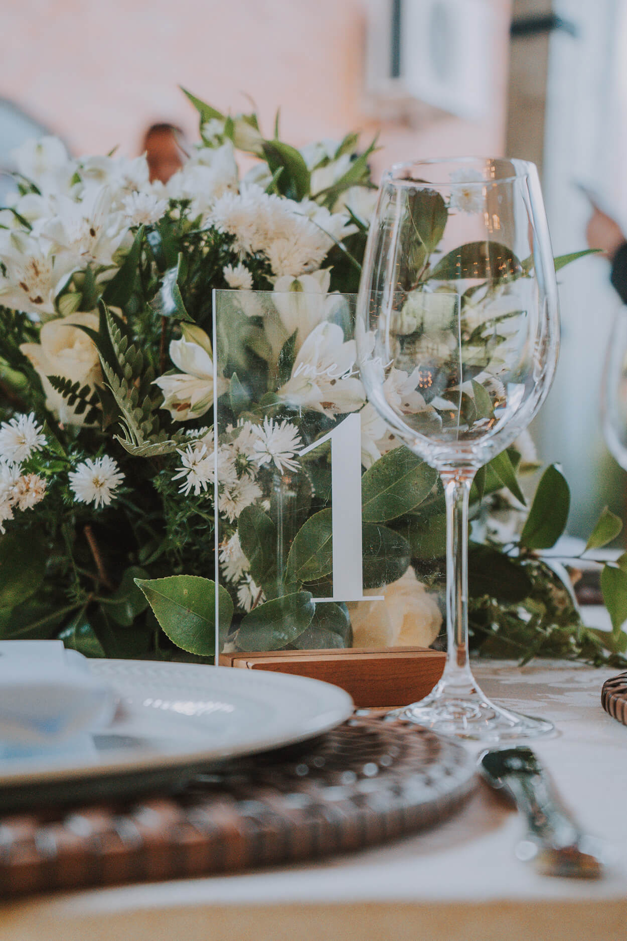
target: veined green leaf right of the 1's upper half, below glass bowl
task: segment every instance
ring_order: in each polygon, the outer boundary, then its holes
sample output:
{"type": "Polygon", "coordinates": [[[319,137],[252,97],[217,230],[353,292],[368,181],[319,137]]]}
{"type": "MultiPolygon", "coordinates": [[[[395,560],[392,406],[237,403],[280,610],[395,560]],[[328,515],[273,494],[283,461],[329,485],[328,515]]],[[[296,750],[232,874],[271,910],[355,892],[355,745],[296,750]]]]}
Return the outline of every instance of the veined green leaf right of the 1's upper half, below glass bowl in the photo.
{"type": "Polygon", "coordinates": [[[413,510],[431,491],[437,471],[407,448],[395,448],[362,477],[365,522],[386,522],[413,510]]]}

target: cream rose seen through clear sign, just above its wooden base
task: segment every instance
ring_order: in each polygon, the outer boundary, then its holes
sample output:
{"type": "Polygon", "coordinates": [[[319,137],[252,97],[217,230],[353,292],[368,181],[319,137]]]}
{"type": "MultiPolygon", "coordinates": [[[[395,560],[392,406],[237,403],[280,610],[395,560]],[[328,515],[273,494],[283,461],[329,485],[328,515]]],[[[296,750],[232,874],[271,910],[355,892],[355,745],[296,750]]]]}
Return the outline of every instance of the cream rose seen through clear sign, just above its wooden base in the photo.
{"type": "Polygon", "coordinates": [[[364,595],[383,595],[384,600],[349,602],[353,646],[429,646],[437,637],[442,614],[412,566],[398,582],[364,595]]]}

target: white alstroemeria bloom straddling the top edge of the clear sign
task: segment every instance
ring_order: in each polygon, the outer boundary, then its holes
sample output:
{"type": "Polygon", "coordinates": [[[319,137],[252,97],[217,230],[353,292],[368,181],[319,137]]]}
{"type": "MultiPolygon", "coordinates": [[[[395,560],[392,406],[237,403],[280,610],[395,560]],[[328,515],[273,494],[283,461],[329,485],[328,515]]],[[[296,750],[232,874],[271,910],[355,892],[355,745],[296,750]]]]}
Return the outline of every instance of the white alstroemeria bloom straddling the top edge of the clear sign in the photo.
{"type": "Polygon", "coordinates": [[[287,275],[274,281],[274,307],[286,336],[296,332],[296,352],[314,327],[328,320],[337,307],[338,295],[328,295],[330,282],[329,270],[313,271],[300,278],[287,275]]]}

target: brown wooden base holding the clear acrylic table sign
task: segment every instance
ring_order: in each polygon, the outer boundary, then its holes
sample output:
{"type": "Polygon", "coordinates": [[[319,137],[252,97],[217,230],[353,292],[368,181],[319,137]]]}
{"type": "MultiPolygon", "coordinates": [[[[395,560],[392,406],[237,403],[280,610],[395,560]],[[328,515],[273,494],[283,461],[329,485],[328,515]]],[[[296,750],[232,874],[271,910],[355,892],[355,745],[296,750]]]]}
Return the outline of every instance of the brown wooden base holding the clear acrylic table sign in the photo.
{"type": "Polygon", "coordinates": [[[406,706],[422,699],[442,676],[446,654],[421,647],[372,650],[271,650],[220,655],[221,666],[274,670],[341,686],[358,708],[406,706]]]}

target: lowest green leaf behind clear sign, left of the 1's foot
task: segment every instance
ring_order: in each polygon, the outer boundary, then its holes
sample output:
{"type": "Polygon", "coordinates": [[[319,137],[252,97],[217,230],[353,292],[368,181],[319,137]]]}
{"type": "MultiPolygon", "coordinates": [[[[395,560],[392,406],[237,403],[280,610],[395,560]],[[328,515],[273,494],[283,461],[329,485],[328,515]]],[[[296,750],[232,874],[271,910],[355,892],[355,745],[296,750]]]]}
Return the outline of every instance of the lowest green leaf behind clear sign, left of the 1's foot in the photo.
{"type": "Polygon", "coordinates": [[[315,609],[308,591],[266,601],[243,617],[236,644],[241,650],[281,650],[309,627],[315,609]]]}

